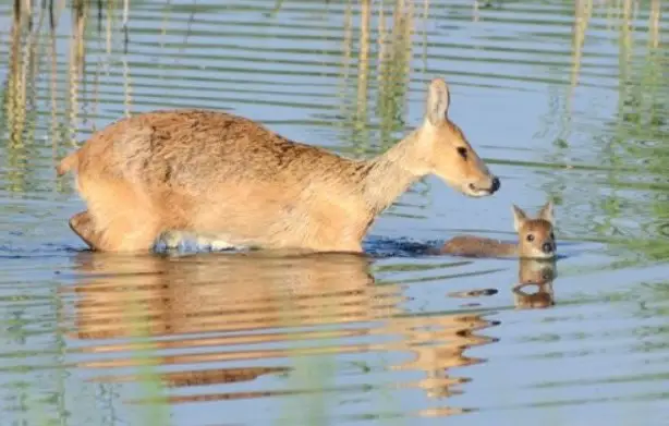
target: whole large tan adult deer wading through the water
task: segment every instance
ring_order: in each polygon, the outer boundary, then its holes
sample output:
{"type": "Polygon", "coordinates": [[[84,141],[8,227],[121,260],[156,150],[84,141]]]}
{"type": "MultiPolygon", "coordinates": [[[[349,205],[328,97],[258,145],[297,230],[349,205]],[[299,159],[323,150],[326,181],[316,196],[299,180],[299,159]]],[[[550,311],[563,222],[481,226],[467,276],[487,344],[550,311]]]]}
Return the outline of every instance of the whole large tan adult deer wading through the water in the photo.
{"type": "Polygon", "coordinates": [[[499,188],[448,119],[449,102],[446,83],[434,80],[423,125],[370,160],[295,143],[222,112],[123,119],[58,166],[59,174],[77,173],[88,207],[70,226],[90,247],[111,252],[148,251],[170,233],[233,246],[361,252],[375,217],[426,174],[470,196],[499,188]]]}

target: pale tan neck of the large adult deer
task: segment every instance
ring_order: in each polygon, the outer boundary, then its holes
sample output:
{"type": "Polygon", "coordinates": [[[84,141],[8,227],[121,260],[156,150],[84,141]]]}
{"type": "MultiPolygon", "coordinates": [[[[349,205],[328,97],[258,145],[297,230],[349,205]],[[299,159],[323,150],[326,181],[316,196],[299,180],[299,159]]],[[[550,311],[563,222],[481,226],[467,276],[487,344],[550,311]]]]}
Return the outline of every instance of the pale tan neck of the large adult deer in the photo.
{"type": "Polygon", "coordinates": [[[385,210],[406,188],[429,173],[422,155],[419,130],[413,131],[380,156],[368,160],[363,196],[373,216],[385,210]]]}

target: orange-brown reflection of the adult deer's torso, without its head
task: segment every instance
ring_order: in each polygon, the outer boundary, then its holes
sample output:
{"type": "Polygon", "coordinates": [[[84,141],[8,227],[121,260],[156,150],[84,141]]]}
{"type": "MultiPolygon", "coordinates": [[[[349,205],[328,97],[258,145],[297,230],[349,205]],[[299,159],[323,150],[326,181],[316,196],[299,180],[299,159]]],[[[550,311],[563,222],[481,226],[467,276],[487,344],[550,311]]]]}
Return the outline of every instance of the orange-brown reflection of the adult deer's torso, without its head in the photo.
{"type": "MultiPolygon", "coordinates": [[[[369,330],[297,332],[291,331],[291,327],[368,321],[392,315],[397,309],[396,290],[374,287],[369,260],[357,255],[278,257],[251,253],[168,258],[81,253],[75,269],[85,275],[70,288],[77,295],[72,337],[81,340],[161,337],[144,339],[144,343],[126,341],[86,346],[83,353],[119,354],[111,360],[78,364],[88,368],[137,366],[136,358],[123,355],[141,350],[155,351],[153,361],[159,365],[294,356],[300,351],[277,349],[277,344],[358,337],[369,330]],[[267,349],[268,344],[272,349],[267,349]],[[236,348],[230,349],[232,345],[236,348]],[[211,350],[204,352],[207,348],[211,350]],[[198,349],[197,353],[193,349],[198,349]],[[161,350],[182,353],[161,356],[161,350]],[[184,350],[191,351],[185,354],[184,350]]],[[[365,345],[351,345],[303,352],[366,350],[365,345]]],[[[258,374],[288,369],[198,368],[163,374],[160,379],[178,387],[252,380],[258,374]]],[[[110,375],[97,380],[136,379],[110,375]]]]}

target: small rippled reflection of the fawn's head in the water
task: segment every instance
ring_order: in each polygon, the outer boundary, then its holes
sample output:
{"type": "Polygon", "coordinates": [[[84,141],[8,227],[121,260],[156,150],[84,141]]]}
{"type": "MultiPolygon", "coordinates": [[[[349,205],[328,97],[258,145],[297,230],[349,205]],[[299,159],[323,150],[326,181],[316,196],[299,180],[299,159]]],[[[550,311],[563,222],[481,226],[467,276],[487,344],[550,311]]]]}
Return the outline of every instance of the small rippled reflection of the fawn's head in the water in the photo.
{"type": "Polygon", "coordinates": [[[515,307],[522,309],[544,308],[555,305],[552,281],[557,278],[556,263],[522,259],[519,283],[513,287],[515,307]],[[526,290],[536,288],[534,293],[526,290]]]}

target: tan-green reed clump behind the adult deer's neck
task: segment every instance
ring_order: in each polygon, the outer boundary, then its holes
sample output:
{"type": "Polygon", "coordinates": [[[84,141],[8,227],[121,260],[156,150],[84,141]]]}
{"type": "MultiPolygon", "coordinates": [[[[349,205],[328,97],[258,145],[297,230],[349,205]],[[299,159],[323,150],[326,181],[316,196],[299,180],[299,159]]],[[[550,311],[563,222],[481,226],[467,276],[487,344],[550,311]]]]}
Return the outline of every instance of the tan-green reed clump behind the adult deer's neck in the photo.
{"type": "Polygon", "coordinates": [[[406,129],[412,36],[418,20],[414,2],[408,0],[348,0],[344,14],[340,83],[344,120],[339,125],[351,133],[351,150],[365,156],[388,148],[406,129]],[[358,19],[353,20],[356,4],[358,19]],[[377,125],[378,135],[372,132],[377,125]]]}

